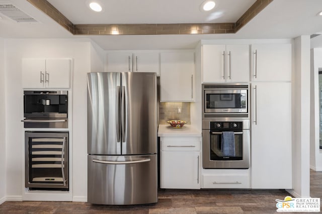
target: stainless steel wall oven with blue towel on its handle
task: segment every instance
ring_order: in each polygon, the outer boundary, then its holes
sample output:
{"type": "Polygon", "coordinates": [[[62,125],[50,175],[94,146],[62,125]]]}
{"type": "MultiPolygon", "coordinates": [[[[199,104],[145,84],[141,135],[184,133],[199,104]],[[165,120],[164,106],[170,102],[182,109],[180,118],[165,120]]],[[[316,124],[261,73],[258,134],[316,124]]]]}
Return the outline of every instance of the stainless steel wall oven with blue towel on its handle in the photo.
{"type": "Polygon", "coordinates": [[[217,118],[202,121],[203,168],[250,167],[250,120],[217,118]]]}

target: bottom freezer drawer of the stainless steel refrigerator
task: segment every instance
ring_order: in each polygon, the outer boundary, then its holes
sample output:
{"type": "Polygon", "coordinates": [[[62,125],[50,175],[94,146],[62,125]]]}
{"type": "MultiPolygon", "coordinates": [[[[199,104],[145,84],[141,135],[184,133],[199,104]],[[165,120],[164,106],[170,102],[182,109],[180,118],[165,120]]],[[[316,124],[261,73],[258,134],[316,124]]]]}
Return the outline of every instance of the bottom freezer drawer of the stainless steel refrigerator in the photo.
{"type": "Polygon", "coordinates": [[[143,204],[157,202],[156,154],[88,155],[88,202],[143,204]]]}

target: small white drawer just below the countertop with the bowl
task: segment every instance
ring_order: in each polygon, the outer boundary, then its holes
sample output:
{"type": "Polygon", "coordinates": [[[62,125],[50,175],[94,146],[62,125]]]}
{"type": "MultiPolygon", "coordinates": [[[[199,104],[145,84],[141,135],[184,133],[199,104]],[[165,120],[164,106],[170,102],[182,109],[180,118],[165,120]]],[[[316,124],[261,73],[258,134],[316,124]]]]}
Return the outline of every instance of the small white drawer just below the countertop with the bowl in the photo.
{"type": "Polygon", "coordinates": [[[186,140],[163,140],[161,141],[163,151],[199,151],[200,141],[186,140]]]}

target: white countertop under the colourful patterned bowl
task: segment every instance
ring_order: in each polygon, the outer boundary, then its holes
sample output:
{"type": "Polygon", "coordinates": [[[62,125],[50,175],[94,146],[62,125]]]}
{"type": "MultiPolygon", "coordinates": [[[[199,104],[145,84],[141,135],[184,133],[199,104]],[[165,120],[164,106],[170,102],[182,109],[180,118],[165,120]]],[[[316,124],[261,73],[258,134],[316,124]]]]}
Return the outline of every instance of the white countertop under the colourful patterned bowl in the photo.
{"type": "Polygon", "coordinates": [[[201,137],[201,130],[198,131],[193,125],[185,124],[182,128],[172,128],[169,124],[159,124],[158,137],[201,137]]]}

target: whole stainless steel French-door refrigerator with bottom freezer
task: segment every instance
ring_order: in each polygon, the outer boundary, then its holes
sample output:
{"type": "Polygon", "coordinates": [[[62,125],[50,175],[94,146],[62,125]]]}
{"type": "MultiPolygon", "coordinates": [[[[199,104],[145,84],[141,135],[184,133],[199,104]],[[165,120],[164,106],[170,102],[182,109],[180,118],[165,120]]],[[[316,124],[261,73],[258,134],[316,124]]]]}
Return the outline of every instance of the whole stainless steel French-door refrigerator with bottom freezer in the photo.
{"type": "Polygon", "coordinates": [[[88,202],[157,202],[156,74],[87,77],[88,202]]]}

